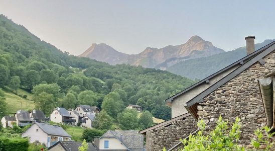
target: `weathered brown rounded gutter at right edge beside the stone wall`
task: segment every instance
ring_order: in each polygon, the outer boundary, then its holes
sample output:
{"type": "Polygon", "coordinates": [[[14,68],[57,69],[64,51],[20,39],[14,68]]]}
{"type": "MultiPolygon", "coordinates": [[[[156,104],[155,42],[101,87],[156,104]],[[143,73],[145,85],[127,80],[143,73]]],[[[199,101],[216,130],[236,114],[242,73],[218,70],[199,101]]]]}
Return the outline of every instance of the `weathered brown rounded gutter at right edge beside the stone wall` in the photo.
{"type": "Polygon", "coordinates": [[[270,127],[273,131],[275,129],[275,113],[272,107],[274,106],[273,100],[275,100],[275,77],[270,76],[264,79],[258,80],[260,89],[260,96],[263,103],[263,108],[266,116],[266,126],[270,127]]]}

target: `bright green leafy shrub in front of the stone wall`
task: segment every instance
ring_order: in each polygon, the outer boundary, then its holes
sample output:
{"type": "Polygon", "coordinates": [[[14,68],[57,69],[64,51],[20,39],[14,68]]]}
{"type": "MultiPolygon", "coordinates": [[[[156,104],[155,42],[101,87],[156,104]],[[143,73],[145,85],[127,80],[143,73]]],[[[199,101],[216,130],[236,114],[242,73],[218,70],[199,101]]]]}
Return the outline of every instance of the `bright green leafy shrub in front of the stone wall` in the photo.
{"type": "MultiPolygon", "coordinates": [[[[184,147],[177,150],[271,150],[274,145],[274,142],[271,142],[271,136],[275,133],[269,133],[270,129],[266,126],[254,132],[255,137],[251,138],[252,149],[240,145],[241,124],[238,117],[232,123],[231,128],[229,128],[228,121],[223,121],[220,116],[216,122],[216,127],[210,133],[204,132],[205,123],[203,120],[200,120],[197,126],[199,131],[194,135],[190,134],[188,138],[181,139],[184,147]],[[265,135],[263,135],[262,131],[264,131],[265,135]]],[[[163,150],[165,151],[166,149],[164,148],[163,150]]]]}

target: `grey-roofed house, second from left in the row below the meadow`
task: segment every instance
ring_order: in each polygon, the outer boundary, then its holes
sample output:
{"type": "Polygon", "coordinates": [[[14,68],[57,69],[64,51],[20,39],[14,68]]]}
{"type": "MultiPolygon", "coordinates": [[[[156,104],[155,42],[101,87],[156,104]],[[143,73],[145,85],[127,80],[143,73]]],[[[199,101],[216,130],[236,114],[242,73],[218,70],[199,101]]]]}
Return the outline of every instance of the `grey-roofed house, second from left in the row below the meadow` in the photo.
{"type": "Polygon", "coordinates": [[[16,124],[19,127],[23,127],[29,124],[32,124],[34,122],[33,119],[30,117],[30,113],[27,111],[17,111],[15,113],[15,118],[16,118],[16,124]]]}

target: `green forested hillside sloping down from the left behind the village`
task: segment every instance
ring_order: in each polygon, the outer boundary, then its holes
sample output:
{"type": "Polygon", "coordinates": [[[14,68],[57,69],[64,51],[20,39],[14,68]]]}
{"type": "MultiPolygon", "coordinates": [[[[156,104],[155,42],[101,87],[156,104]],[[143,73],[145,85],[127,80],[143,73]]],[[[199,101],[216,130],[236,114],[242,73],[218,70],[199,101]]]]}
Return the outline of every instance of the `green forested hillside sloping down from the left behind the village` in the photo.
{"type": "MultiPolygon", "coordinates": [[[[125,106],[137,104],[154,117],[167,120],[171,110],[163,100],[192,84],[193,81],[168,71],[109,65],[63,53],[25,27],[0,16],[0,87],[4,91],[11,89],[16,93],[21,88],[33,93],[35,108],[46,115],[54,107],[86,104],[105,110],[113,120],[122,120],[128,114],[125,106]]],[[[2,117],[10,112],[4,110],[5,96],[0,99],[2,117]]]]}

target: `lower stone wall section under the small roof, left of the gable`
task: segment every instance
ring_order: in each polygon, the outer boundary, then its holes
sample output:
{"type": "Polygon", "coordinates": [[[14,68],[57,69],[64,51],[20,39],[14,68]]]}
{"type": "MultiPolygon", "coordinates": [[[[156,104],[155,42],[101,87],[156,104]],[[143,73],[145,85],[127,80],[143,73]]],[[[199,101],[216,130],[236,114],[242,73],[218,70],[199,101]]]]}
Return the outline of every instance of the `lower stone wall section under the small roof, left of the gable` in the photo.
{"type": "Polygon", "coordinates": [[[197,130],[197,121],[190,115],[185,119],[178,120],[169,126],[158,130],[146,132],[146,150],[162,150],[165,146],[169,149],[197,130]]]}

